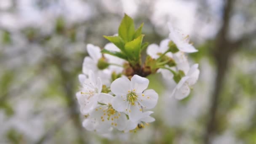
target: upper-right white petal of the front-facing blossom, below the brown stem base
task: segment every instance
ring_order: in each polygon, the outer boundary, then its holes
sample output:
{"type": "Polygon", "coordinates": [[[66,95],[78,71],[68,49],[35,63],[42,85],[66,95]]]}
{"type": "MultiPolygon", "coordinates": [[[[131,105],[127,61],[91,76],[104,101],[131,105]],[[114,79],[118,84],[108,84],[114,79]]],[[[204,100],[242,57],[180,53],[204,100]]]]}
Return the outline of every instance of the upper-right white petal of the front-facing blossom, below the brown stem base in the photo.
{"type": "Polygon", "coordinates": [[[149,85],[149,80],[139,75],[133,75],[131,78],[132,89],[136,90],[136,93],[142,93],[149,85]]]}

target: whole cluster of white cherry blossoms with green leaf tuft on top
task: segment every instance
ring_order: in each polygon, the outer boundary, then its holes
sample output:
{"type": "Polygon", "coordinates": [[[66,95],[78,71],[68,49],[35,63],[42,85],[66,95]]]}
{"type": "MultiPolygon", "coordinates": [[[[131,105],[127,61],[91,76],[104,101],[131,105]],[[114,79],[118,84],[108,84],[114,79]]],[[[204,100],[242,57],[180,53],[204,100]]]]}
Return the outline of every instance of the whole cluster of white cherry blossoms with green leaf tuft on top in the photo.
{"type": "Polygon", "coordinates": [[[185,53],[197,52],[189,37],[171,24],[170,34],[160,45],[142,43],[143,24],[134,29],[133,20],[125,15],[118,34],[104,36],[112,43],[103,49],[88,44],[88,56],[80,74],[80,91],[76,93],[80,112],[85,116],[83,127],[88,131],[109,133],[137,131],[155,121],[149,111],[157,104],[158,94],[147,89],[148,75],[160,72],[176,87],[170,96],[184,99],[199,76],[198,64],[189,66],[185,53]],[[147,48],[147,58],[141,51],[147,48]]]}

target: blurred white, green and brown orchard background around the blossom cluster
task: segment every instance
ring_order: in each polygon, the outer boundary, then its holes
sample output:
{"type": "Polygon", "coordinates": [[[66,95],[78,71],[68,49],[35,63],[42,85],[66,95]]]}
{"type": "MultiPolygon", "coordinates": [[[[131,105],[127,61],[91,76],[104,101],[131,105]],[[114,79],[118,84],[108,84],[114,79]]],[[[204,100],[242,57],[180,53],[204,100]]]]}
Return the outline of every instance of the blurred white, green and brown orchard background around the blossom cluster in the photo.
{"type": "Polygon", "coordinates": [[[0,144],[256,144],[255,0],[0,0],[0,144]],[[199,50],[189,97],[152,75],[156,121],[137,133],[99,136],[82,127],[75,92],[86,44],[101,48],[127,13],[144,41],[167,22],[199,50]]]}

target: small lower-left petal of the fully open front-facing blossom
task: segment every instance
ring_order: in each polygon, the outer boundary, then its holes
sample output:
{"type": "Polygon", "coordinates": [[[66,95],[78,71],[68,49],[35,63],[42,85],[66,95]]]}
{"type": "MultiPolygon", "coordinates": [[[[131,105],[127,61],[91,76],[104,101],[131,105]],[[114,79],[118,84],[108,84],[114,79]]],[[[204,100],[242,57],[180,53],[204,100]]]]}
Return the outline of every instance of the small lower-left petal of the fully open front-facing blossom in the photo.
{"type": "Polygon", "coordinates": [[[126,105],[128,101],[124,101],[126,97],[121,97],[121,96],[115,96],[114,99],[112,100],[112,107],[118,111],[118,112],[123,112],[126,109],[126,105]]]}

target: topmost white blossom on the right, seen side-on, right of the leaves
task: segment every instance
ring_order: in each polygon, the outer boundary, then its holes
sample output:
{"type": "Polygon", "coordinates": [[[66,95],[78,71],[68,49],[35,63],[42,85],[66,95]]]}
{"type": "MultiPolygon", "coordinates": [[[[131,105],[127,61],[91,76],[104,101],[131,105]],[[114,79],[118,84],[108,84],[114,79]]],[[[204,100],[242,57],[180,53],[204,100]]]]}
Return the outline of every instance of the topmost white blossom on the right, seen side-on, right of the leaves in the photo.
{"type": "Polygon", "coordinates": [[[185,53],[194,53],[198,50],[189,43],[188,35],[183,35],[179,30],[174,29],[171,23],[168,23],[168,27],[170,30],[169,38],[176,44],[179,51],[183,51],[185,53]]]}

